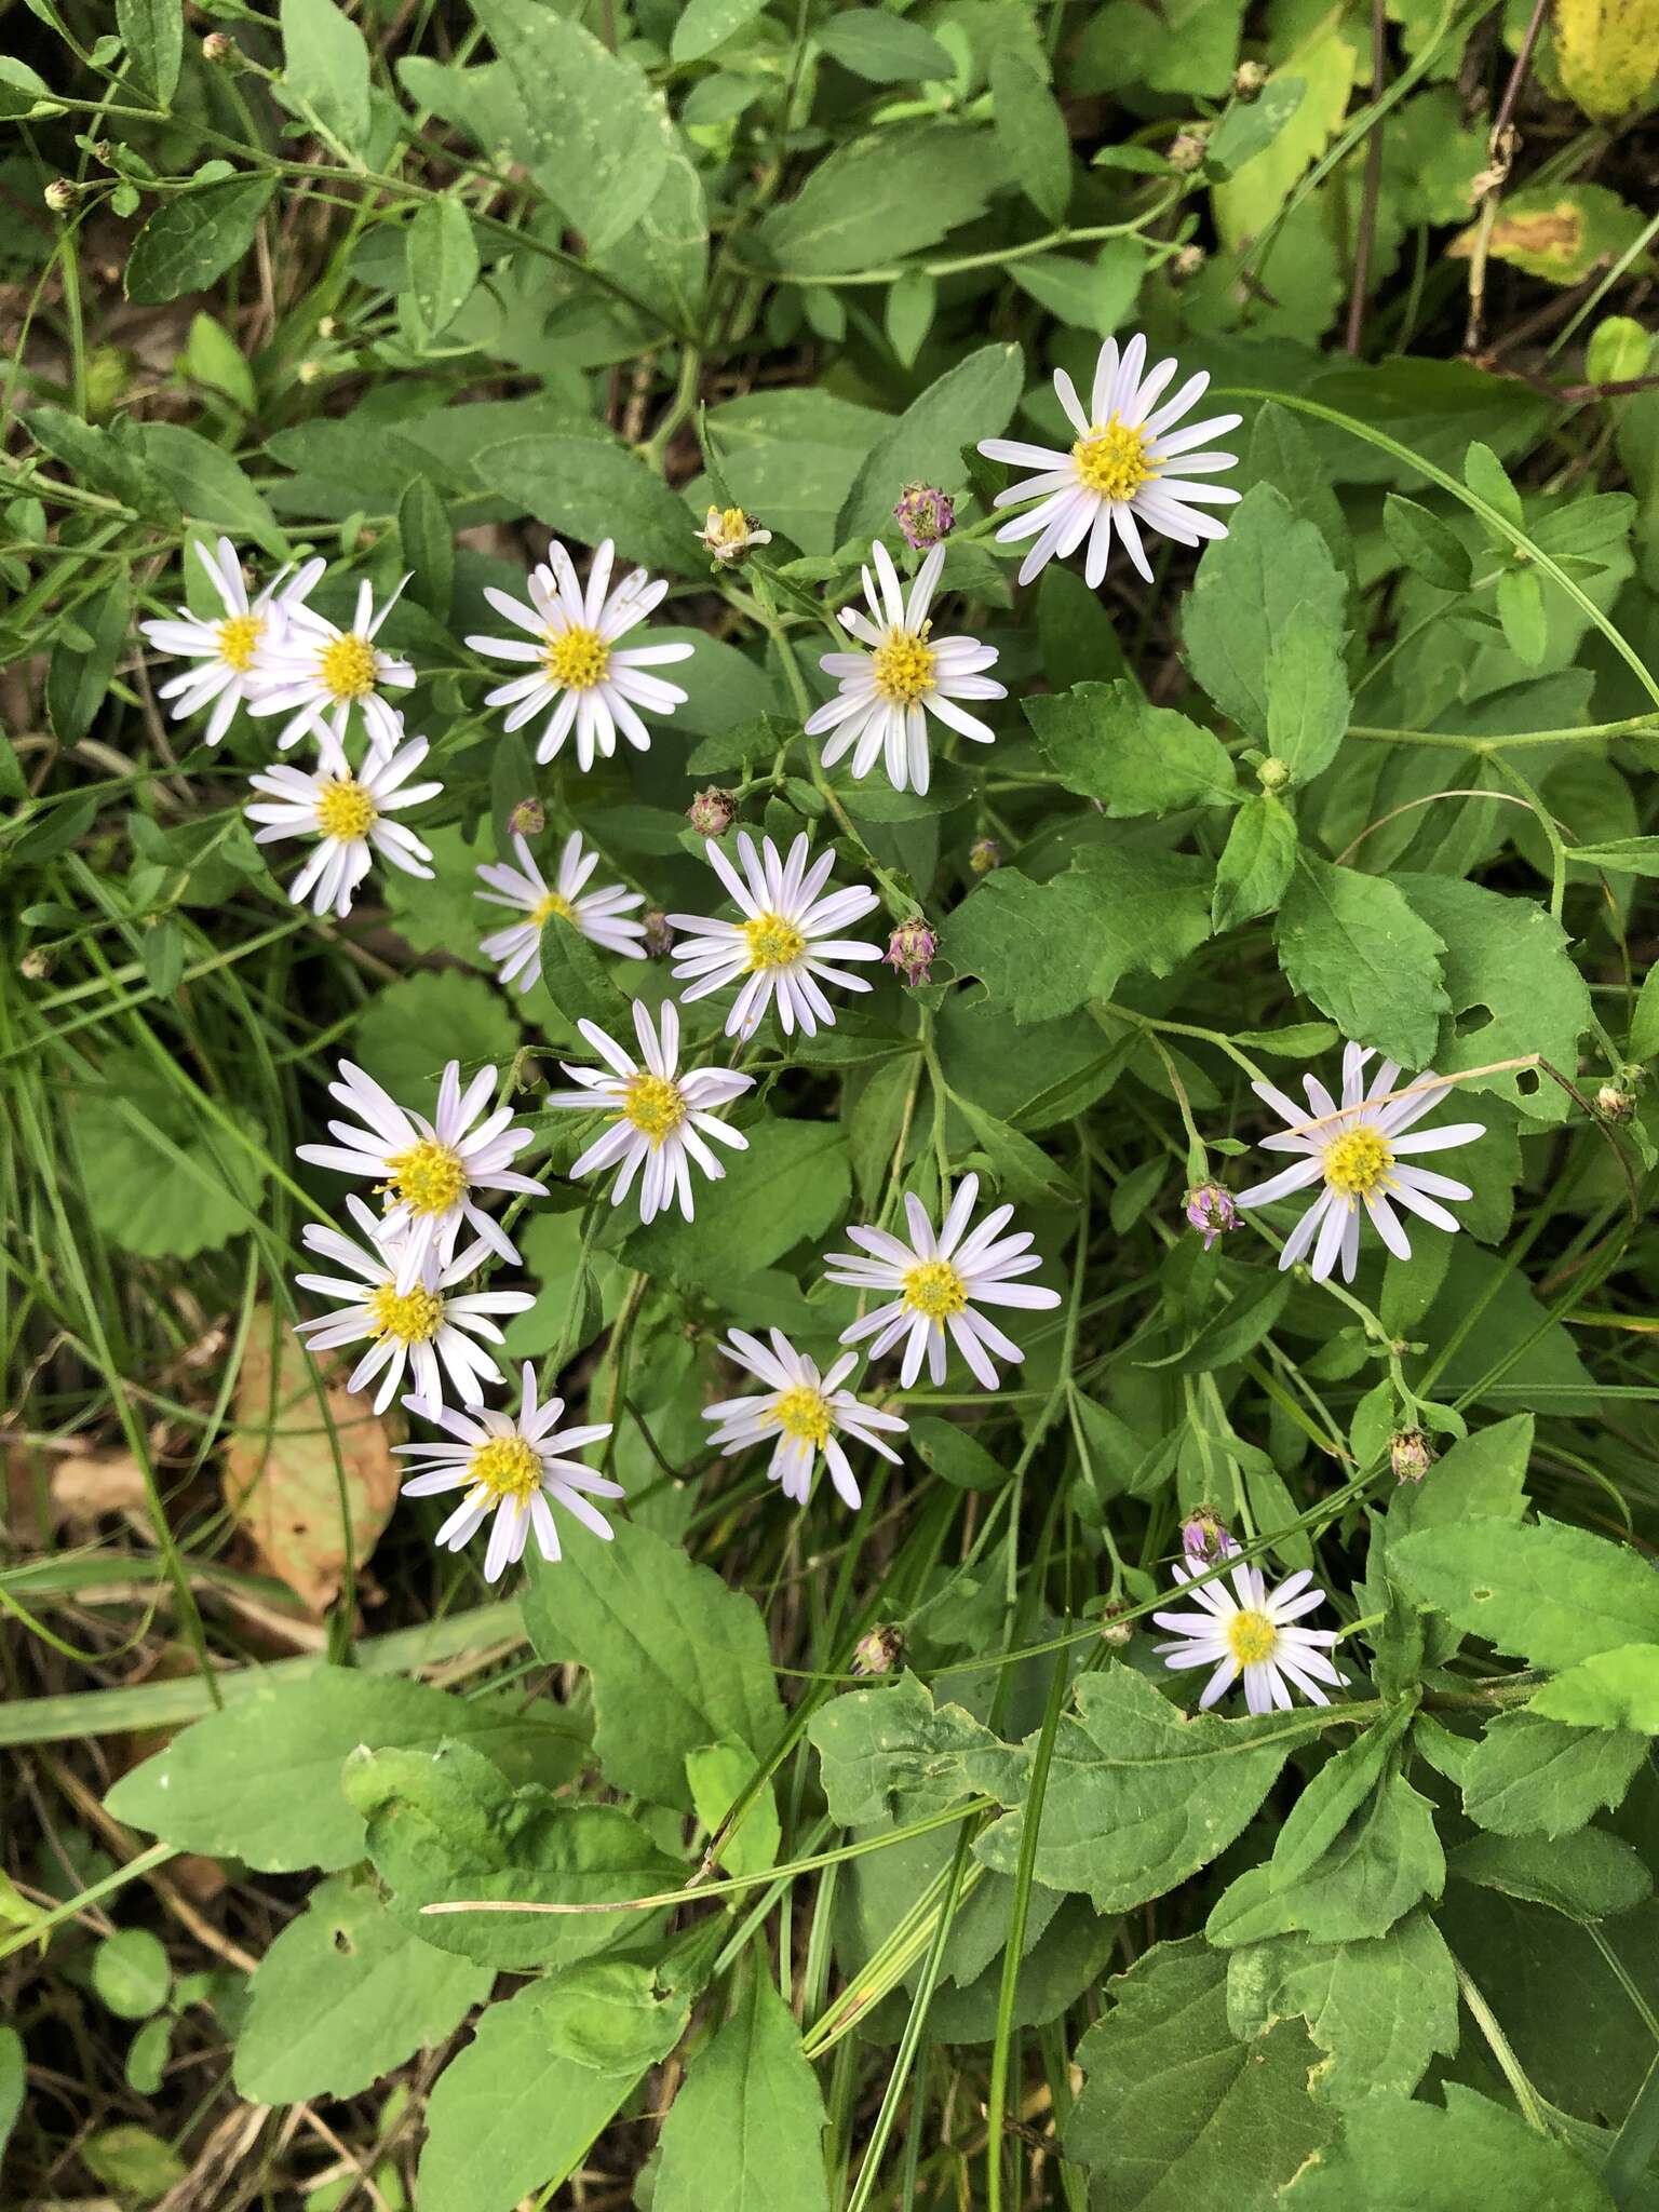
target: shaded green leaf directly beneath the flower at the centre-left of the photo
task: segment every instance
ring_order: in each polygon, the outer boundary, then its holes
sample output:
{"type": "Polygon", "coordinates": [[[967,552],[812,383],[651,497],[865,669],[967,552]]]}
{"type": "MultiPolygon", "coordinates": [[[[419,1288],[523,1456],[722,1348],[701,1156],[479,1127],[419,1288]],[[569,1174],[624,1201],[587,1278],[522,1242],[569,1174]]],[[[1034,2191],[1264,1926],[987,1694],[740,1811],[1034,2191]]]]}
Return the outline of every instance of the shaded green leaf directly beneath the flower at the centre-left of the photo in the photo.
{"type": "Polygon", "coordinates": [[[841,1128],[779,1115],[748,1139],[743,1152],[721,1148],[726,1177],[697,1192],[695,1221],[659,1214],[628,1237],[630,1267],[719,1296],[843,1219],[852,1170],[841,1128]]]}

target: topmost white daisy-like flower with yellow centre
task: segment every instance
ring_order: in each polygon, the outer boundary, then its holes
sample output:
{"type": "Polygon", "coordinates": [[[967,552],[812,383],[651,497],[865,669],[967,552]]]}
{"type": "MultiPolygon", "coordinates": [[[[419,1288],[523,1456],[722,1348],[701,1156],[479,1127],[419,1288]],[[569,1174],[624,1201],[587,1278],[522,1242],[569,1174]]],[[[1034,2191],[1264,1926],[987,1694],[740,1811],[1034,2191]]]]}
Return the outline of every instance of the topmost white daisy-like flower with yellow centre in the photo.
{"type": "Polygon", "coordinates": [[[1239,456],[1199,453],[1194,447],[1237,429],[1243,416],[1210,416],[1208,422],[1177,429],[1181,416],[1203,398],[1210,378],[1188,376],[1175,398],[1159,407],[1177,361],[1170,356],[1141,374],[1144,367],[1146,338],[1130,338],[1121,354],[1117,338],[1108,338],[1095,363],[1086,414],[1071,376],[1055,369],[1055,394],[1077,431],[1077,442],[1066,453],[1046,445],[1022,445],[1018,438],[980,440],[987,460],[1037,471],[995,495],[998,507],[1037,500],[1029,513],[1004,522],[998,531],[1004,544],[1020,538],[1037,540],[1020,564],[1022,584],[1029,584],[1055,555],[1064,560],[1075,553],[1084,538],[1088,538],[1084,577],[1093,591],[1106,575],[1113,531],[1148,584],[1152,564],[1141,544],[1141,524],[1183,546],[1228,535],[1225,524],[1206,509],[1232,507],[1239,493],[1225,484],[1203,484],[1199,478],[1234,469],[1239,456]]]}

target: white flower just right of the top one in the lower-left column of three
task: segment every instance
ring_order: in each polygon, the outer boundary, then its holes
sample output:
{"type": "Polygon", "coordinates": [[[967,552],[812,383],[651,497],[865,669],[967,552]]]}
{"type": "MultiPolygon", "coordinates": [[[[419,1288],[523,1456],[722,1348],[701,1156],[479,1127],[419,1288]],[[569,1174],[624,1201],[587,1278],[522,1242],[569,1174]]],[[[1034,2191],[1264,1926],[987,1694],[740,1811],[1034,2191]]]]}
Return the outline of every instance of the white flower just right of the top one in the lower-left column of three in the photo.
{"type": "Polygon", "coordinates": [[[657,1029],[648,1009],[635,1002],[633,1026],[639,1035],[644,1066],[606,1037],[597,1022],[577,1022],[582,1035],[606,1064],[602,1068],[573,1068],[562,1060],[564,1073],[582,1088],[551,1091],[546,1102],[549,1106],[575,1106],[582,1113],[597,1108],[611,1115],[611,1128],[582,1152],[571,1177],[597,1175],[622,1161],[622,1175],[611,1188],[613,1206],[622,1206],[635,1175],[639,1175],[641,1221],[655,1221],[675,1201],[690,1221],[692,1161],[714,1181],[726,1175],[723,1161],[710,1152],[703,1139],[714,1137],[719,1144],[748,1152],[748,1137],[721,1121],[714,1108],[730,1106],[732,1099],[752,1088],[754,1077],[732,1068],[681,1073],[677,1006],[661,1009],[661,1029],[657,1029]]]}

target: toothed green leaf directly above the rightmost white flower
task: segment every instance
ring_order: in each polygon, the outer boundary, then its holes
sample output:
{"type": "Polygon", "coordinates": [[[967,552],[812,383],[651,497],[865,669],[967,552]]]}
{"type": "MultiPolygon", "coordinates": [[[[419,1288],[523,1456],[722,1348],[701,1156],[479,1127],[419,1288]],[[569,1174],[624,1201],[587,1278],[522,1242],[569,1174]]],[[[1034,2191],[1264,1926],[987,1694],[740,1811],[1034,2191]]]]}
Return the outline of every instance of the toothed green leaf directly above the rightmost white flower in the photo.
{"type": "Polygon", "coordinates": [[[1360,876],[1303,852],[1279,907],[1279,964],[1354,1044],[1405,1068],[1433,1055],[1449,998],[1447,947],[1385,876],[1360,876]]]}

